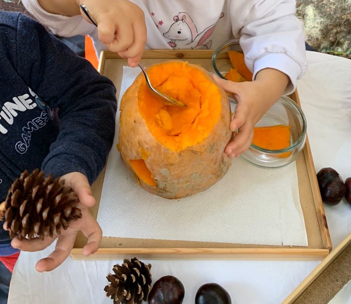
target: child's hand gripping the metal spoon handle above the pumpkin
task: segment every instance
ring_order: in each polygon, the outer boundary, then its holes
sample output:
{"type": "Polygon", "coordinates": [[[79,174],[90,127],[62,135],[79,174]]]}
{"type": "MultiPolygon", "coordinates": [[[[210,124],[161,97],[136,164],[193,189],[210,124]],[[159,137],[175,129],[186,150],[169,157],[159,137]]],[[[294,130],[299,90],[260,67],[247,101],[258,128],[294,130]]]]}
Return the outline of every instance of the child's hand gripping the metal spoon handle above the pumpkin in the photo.
{"type": "MultiPolygon", "coordinates": [[[[128,58],[135,66],[146,43],[144,13],[139,6],[128,0],[76,0],[84,4],[97,23],[98,38],[109,50],[128,58]]],[[[81,11],[83,17],[89,19],[81,11]]]]}

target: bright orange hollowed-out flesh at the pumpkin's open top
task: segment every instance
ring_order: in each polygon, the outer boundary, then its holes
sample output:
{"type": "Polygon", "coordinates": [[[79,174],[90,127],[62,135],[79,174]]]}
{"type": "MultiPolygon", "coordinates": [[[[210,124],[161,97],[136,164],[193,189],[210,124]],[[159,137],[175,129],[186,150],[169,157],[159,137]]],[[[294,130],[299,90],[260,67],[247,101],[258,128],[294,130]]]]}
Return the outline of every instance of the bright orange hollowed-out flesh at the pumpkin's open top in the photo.
{"type": "Polygon", "coordinates": [[[164,104],[150,92],[143,79],[138,108],[158,142],[179,151],[206,138],[221,112],[222,95],[213,81],[186,61],[153,65],[147,73],[156,89],[186,104],[186,107],[164,104]]]}

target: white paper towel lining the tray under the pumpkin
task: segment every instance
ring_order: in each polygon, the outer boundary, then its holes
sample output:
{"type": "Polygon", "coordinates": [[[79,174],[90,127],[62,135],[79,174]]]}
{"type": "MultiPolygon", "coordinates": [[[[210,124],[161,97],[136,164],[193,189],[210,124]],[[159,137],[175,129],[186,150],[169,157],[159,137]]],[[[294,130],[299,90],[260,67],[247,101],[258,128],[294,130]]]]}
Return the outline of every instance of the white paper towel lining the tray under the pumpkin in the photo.
{"type": "MultiPolygon", "coordinates": [[[[139,73],[123,67],[120,97],[139,73]]],[[[119,102],[118,102],[119,104],[119,102]]],[[[295,163],[268,170],[242,158],[207,190],[179,200],[152,195],[108,156],[97,215],[103,236],[307,246],[295,163]]]]}

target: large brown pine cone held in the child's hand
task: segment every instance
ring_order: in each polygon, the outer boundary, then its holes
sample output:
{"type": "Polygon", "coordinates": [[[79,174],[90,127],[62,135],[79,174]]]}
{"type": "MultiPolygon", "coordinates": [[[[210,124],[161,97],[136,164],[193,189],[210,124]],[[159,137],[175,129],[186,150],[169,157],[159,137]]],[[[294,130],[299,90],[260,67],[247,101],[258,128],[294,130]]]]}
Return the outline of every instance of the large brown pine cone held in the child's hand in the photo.
{"type": "Polygon", "coordinates": [[[78,198],[73,190],[64,185],[59,177],[44,178],[44,171],[27,170],[12,183],[3,201],[3,215],[10,237],[18,234],[22,239],[59,235],[61,228],[67,229],[71,220],[81,217],[74,207],[78,198]]]}

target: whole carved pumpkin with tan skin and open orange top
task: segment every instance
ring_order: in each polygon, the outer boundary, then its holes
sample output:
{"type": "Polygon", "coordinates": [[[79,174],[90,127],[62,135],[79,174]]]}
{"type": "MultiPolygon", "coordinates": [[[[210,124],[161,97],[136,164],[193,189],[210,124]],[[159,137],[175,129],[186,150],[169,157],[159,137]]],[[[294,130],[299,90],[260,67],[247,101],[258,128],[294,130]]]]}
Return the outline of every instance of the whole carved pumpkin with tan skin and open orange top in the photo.
{"type": "Polygon", "coordinates": [[[204,68],[169,60],[147,68],[155,88],[186,104],[155,97],[140,73],[121,98],[117,148],[148,192],[181,198],[207,189],[227,172],[232,137],[227,95],[204,68]]]}

